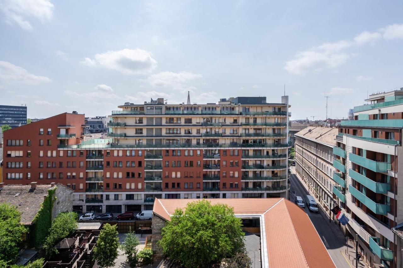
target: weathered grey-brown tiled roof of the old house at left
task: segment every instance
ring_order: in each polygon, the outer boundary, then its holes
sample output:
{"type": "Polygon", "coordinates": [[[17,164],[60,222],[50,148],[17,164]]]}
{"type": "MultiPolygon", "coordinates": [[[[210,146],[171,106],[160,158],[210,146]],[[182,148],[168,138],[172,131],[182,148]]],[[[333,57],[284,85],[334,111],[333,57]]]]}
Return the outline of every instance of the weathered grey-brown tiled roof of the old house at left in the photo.
{"type": "Polygon", "coordinates": [[[30,225],[51,187],[50,184],[38,184],[33,190],[30,185],[6,184],[0,190],[0,203],[14,205],[22,213],[21,223],[30,225]]]}

